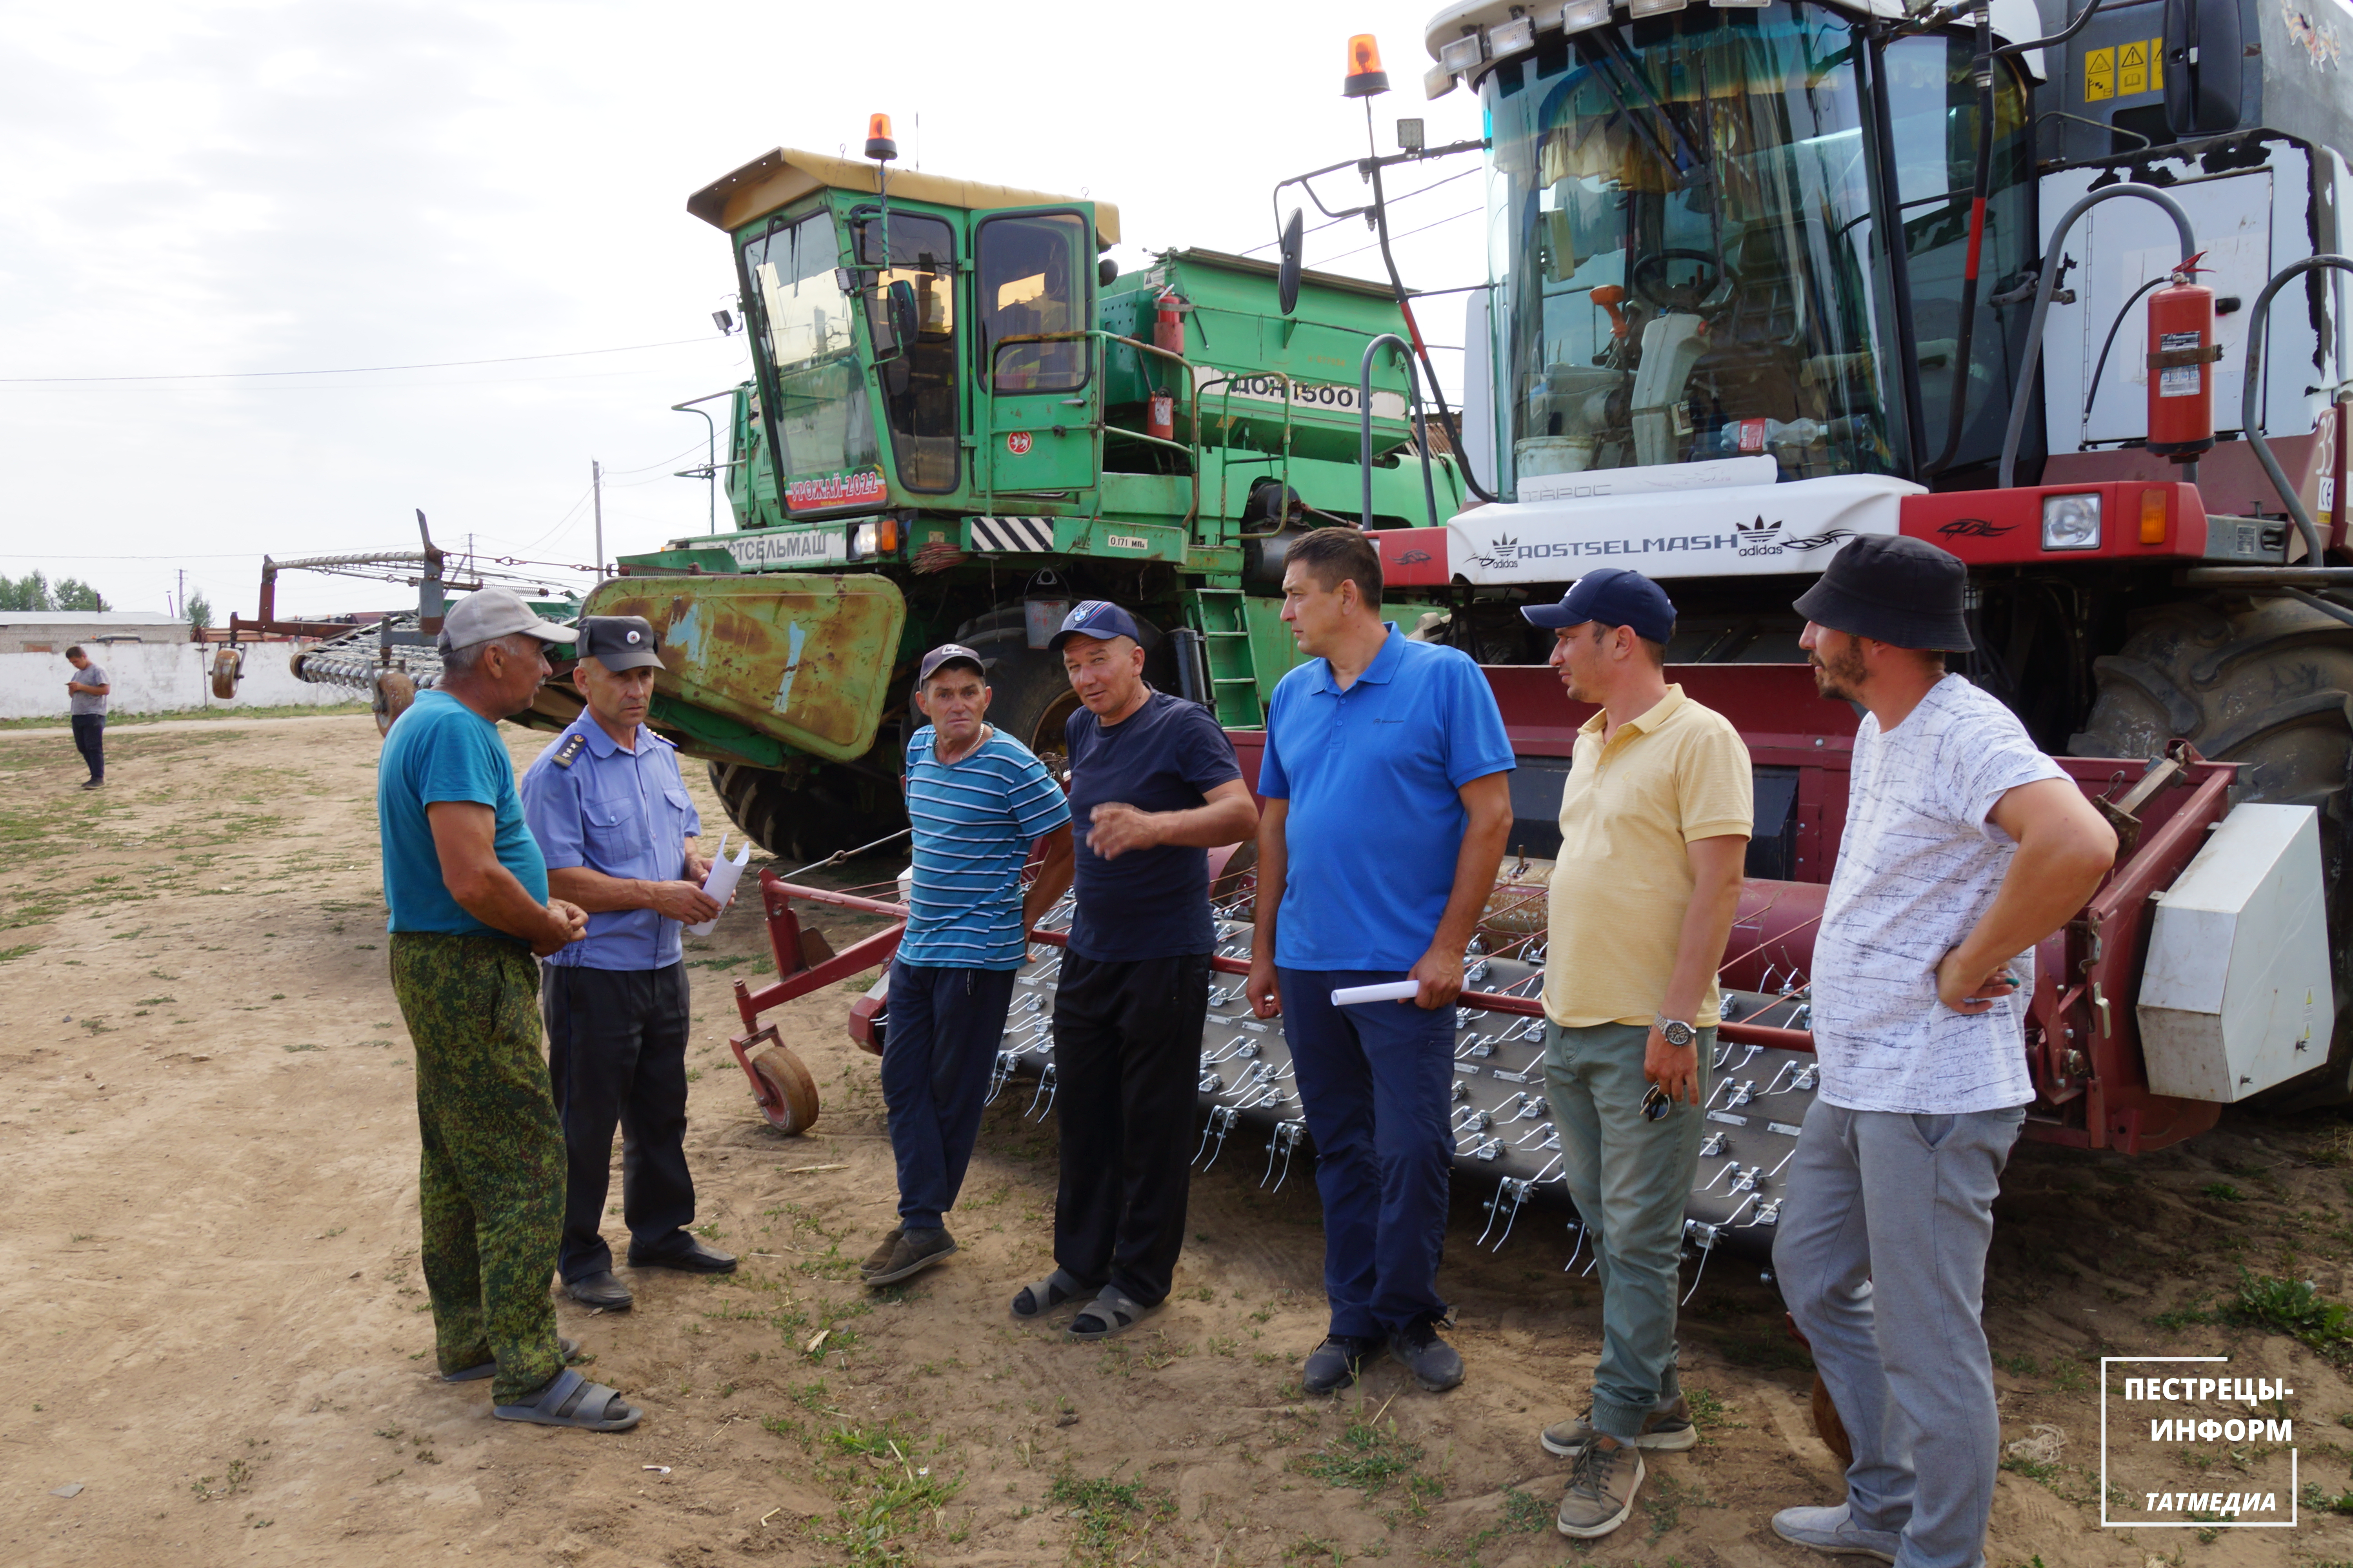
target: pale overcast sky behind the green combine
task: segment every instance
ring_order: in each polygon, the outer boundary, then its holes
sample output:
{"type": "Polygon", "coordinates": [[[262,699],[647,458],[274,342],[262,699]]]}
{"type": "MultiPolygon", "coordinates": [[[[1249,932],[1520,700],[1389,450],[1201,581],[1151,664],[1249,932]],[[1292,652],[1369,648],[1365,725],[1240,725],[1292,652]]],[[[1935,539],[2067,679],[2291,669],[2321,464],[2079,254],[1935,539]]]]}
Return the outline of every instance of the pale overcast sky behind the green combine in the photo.
{"type": "MultiPolygon", "coordinates": [[[[1384,153],[1400,115],[1478,132],[1471,94],[1421,99],[1433,9],[5,0],[0,571],[160,611],[186,569],[226,621],[264,552],[407,548],[416,508],[442,545],[588,562],[591,458],[607,559],[701,531],[706,487],[671,470],[704,423],[668,404],[734,386],[746,350],[711,324],[734,275],[689,190],[779,143],[854,153],[887,110],[904,162],[1118,202],[1122,268],[1261,247],[1275,179],[1365,148],[1348,33],[1398,82],[1384,153]],[[581,353],[633,346],[661,348],[581,353]],[[574,357],[219,376],[515,355],[574,357]]],[[[1409,284],[1482,277],[1478,190],[1398,207],[1435,223],[1398,247],[1409,284]]],[[[1308,263],[1369,275],[1344,256],[1365,242],[1329,228],[1308,263]]],[[[1461,343],[1461,296],[1426,329],[1461,343]]],[[[278,607],[402,595],[289,576],[278,607]]]]}

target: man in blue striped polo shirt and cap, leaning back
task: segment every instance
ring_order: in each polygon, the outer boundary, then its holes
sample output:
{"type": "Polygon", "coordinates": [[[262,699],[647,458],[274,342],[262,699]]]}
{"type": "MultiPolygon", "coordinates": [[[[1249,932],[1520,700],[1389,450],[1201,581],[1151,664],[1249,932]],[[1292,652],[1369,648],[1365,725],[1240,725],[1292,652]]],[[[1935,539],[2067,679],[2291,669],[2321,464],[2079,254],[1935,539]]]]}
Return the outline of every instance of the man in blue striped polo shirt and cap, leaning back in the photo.
{"type": "Polygon", "coordinates": [[[920,1274],[955,1251],[955,1206],[981,1133],[981,1100],[1005,1037],[1028,929],[1071,886],[1071,802],[1045,764],[986,722],[981,656],[948,642],[915,670],[927,726],[906,743],[915,891],[889,966],[882,1105],[899,1161],[899,1227],[866,1258],[871,1286],[920,1274]],[[1021,891],[1031,844],[1045,865],[1021,891]]]}

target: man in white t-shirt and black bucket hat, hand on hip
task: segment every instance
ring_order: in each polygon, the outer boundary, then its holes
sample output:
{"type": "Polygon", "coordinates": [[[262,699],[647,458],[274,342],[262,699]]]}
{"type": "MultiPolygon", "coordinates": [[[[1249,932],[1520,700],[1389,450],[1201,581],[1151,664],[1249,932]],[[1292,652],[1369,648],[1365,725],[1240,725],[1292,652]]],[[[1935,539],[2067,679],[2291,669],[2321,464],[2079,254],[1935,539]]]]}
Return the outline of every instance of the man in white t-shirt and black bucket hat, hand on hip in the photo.
{"type": "Polygon", "coordinates": [[[1979,1324],[1993,1197],[2019,1135],[2033,950],[2115,832],[1944,654],[1967,569],[1859,538],[1798,599],[1826,698],[1866,708],[1814,938],[1821,1091],[1791,1154],[1774,1274],[1854,1465],[1838,1507],[1774,1514],[1817,1552],[1979,1568],[2000,1420],[1979,1324]]]}

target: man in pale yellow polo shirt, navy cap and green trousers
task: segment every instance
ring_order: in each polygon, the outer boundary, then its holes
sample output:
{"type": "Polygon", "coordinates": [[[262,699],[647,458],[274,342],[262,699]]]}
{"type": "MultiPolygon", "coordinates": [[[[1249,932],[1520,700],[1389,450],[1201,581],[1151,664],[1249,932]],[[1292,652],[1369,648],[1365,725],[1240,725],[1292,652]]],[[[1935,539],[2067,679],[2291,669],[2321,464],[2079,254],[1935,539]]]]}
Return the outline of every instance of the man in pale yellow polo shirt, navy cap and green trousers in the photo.
{"type": "Polygon", "coordinates": [[[1645,1448],[1699,1441],[1675,1255],[1755,797],[1732,724],[1666,684],[1675,604],[1657,583],[1609,567],[1520,614],[1551,628],[1569,698],[1600,705],[1560,792],[1544,966],[1546,1095],[1602,1281],[1593,1403],[1544,1448],[1577,1460],[1560,1533],[1591,1540],[1633,1514],[1645,1448]]]}

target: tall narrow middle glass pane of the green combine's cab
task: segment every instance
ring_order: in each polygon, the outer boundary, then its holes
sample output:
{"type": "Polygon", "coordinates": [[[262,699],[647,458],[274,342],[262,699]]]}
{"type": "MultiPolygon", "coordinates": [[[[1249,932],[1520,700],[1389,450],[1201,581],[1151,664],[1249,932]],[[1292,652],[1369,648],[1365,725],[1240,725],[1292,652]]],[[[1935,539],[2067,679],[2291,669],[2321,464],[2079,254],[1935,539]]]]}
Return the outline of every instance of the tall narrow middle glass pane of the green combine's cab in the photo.
{"type": "Polygon", "coordinates": [[[882,256],[882,214],[859,209],[852,233],[861,268],[875,268],[866,324],[882,381],[882,418],[899,454],[899,482],[927,494],[955,489],[955,230],[915,212],[889,214],[889,259],[882,256]],[[904,287],[901,287],[904,284],[904,287]],[[913,299],[915,336],[899,343],[892,292],[913,299]],[[896,350],[896,353],[894,353],[896,350]]]}

